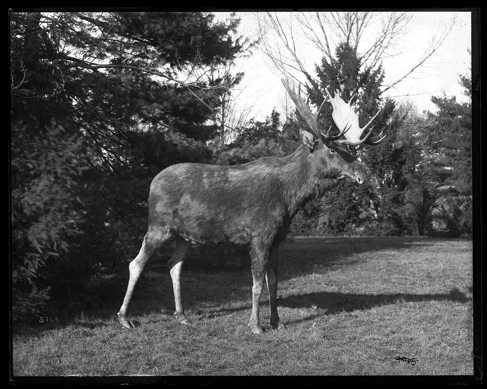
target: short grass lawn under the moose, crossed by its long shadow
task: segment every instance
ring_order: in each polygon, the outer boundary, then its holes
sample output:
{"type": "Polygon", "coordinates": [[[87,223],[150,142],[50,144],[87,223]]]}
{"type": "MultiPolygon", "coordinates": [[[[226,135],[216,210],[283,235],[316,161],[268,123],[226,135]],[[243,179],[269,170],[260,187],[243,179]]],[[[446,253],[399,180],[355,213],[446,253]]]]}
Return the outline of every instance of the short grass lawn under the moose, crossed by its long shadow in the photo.
{"type": "MultiPolygon", "coordinates": [[[[128,271],[128,270],[127,270],[128,271]]],[[[428,238],[294,238],[281,245],[278,309],[286,328],[247,328],[250,263],[182,273],[193,326],[173,317],[169,271],[146,268],[128,330],[116,313],[126,283],[103,306],[59,323],[14,325],[14,376],[472,375],[472,242],[428,238]],[[396,357],[415,358],[415,363],[396,357]]],[[[318,378],[326,383],[325,378],[318,378]]]]}

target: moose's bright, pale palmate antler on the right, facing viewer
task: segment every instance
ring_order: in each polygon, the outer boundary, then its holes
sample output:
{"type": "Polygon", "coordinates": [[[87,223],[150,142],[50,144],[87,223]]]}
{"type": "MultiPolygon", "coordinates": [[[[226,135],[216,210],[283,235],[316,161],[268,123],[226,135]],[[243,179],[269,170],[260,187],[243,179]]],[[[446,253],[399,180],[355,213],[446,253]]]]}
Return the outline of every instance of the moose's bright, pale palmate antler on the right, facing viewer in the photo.
{"type": "Polygon", "coordinates": [[[379,114],[380,110],[377,111],[375,116],[369,121],[369,123],[365,125],[365,127],[360,128],[360,125],[358,124],[358,114],[355,112],[355,109],[352,107],[352,99],[354,98],[355,95],[352,95],[349,102],[345,103],[341,98],[340,94],[338,93],[338,91],[335,92],[334,97],[332,97],[332,95],[330,94],[327,88],[325,88],[325,91],[326,94],[328,95],[328,98],[330,99],[330,102],[332,103],[333,106],[332,118],[335,124],[337,124],[337,127],[344,128],[347,125],[350,126],[349,131],[347,131],[347,134],[345,135],[346,140],[340,140],[338,142],[342,144],[350,144],[352,146],[356,146],[357,144],[361,144],[361,143],[375,145],[375,144],[379,144],[381,141],[384,140],[386,136],[385,135],[382,136],[383,131],[381,131],[380,134],[377,135],[374,139],[368,139],[374,127],[371,127],[367,135],[363,139],[360,139],[365,129],[369,126],[369,124],[371,124],[374,121],[374,119],[379,114]]]}

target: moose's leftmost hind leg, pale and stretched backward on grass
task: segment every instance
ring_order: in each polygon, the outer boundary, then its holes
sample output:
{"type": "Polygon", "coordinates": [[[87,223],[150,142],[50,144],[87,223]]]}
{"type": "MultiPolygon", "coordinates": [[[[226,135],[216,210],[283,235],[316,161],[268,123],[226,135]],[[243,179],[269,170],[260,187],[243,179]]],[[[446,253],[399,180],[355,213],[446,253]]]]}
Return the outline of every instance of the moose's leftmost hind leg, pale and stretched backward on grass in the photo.
{"type": "Polygon", "coordinates": [[[144,242],[142,242],[142,247],[139,253],[133,261],[129,264],[129,285],[127,286],[127,292],[125,292],[125,297],[123,299],[120,311],[117,313],[118,321],[126,328],[135,327],[133,323],[128,318],[129,304],[132,298],[133,289],[139,280],[140,274],[150,258],[150,255],[158,248],[160,248],[165,242],[170,238],[170,234],[164,234],[161,236],[160,233],[151,233],[149,230],[144,237],[144,242]]]}

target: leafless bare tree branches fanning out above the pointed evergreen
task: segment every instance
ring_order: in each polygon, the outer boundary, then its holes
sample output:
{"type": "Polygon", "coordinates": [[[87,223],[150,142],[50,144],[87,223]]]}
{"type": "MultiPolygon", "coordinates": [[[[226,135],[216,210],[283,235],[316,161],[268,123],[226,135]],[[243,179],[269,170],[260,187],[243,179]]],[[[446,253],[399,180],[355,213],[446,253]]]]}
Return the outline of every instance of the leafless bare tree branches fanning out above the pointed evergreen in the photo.
{"type": "MultiPolygon", "coordinates": [[[[334,62],[333,54],[339,43],[348,42],[359,57],[363,66],[376,68],[383,59],[403,53],[404,35],[408,32],[412,12],[291,12],[255,13],[258,22],[257,34],[260,38],[258,48],[267,55],[275,69],[286,78],[302,81],[304,78],[315,85],[313,68],[305,65],[299,50],[297,34],[301,41],[310,44],[322,58],[334,62]],[[286,19],[287,18],[287,19],[286,19]],[[294,22],[297,21],[297,23],[294,22]]],[[[433,36],[431,45],[420,56],[411,69],[404,72],[382,91],[393,88],[399,82],[424,66],[429,58],[440,48],[450,33],[454,21],[439,38],[433,36]]],[[[301,44],[302,46],[302,44],[301,44]]]]}

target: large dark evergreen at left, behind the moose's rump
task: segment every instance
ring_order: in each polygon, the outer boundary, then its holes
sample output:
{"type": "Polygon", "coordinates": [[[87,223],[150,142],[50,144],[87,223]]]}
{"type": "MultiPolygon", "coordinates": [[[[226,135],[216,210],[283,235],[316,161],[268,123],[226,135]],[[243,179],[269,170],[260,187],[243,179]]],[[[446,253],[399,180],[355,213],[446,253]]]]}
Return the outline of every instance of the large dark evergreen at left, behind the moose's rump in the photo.
{"type": "Polygon", "coordinates": [[[238,23],[199,12],[10,13],[13,281],[24,307],[49,286],[76,289],[122,248],[131,256],[150,180],[211,159],[211,109],[225,88],[199,75],[241,52],[238,23]]]}

